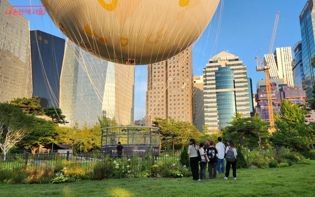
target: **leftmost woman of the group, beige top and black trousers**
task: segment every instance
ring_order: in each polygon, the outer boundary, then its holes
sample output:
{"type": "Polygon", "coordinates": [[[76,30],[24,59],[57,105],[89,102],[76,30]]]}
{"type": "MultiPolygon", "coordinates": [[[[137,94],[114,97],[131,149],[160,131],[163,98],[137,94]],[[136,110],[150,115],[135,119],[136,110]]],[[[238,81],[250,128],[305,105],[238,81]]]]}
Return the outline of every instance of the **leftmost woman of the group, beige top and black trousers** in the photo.
{"type": "Polygon", "coordinates": [[[195,139],[190,139],[189,143],[190,143],[190,145],[188,147],[188,155],[189,155],[189,160],[190,160],[190,169],[192,170],[192,180],[197,181],[199,178],[199,173],[198,173],[198,170],[199,170],[199,161],[198,161],[199,147],[196,144],[195,139]]]}

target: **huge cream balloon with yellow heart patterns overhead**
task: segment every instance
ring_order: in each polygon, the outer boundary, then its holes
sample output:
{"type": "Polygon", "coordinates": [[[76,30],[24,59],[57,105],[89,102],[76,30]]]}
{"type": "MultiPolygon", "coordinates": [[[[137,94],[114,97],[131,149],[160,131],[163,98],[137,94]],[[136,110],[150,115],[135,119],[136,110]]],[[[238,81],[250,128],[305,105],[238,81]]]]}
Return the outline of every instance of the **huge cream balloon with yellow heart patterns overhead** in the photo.
{"type": "Polygon", "coordinates": [[[56,26],[104,60],[144,65],[186,49],[220,0],[41,0],[56,26]]]}

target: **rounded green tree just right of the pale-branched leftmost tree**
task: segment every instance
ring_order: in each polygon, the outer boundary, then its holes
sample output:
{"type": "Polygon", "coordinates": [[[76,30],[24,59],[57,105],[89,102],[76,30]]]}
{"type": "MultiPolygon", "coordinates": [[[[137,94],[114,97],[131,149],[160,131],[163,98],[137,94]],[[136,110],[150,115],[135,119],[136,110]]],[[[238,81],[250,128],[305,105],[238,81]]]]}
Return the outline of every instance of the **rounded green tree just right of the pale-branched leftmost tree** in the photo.
{"type": "Polygon", "coordinates": [[[56,139],[59,133],[56,127],[52,121],[34,117],[31,127],[28,128],[29,134],[19,142],[18,146],[30,149],[31,153],[35,154],[39,144],[58,143],[56,139]]]}

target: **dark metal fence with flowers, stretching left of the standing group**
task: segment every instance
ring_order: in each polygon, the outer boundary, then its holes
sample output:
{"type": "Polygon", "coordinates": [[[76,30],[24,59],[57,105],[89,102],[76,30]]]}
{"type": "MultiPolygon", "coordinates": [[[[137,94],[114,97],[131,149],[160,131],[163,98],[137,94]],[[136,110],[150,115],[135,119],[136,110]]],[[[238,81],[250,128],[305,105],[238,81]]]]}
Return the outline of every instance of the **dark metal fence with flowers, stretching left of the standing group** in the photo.
{"type": "MultiPolygon", "coordinates": [[[[133,159],[134,165],[139,167],[139,171],[144,170],[143,166],[147,168],[153,164],[160,162],[173,165],[179,162],[182,150],[161,150],[157,156],[149,151],[140,152],[124,152],[118,155],[117,152],[87,152],[87,153],[47,153],[47,154],[9,154],[0,155],[0,169],[13,171],[16,168],[28,167],[29,170],[40,170],[45,166],[50,165],[53,169],[62,169],[67,164],[72,166],[80,166],[86,171],[93,170],[93,166],[97,162],[109,159],[133,159]],[[68,163],[66,163],[68,162],[68,163]]],[[[149,170],[149,169],[146,169],[149,170]]]]}

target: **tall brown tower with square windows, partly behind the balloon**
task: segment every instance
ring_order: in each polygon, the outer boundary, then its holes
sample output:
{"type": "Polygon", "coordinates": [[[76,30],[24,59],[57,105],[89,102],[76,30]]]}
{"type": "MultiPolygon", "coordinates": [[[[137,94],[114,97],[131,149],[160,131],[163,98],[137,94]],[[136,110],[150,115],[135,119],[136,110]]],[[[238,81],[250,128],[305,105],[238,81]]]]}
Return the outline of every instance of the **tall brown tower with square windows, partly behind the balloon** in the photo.
{"type": "Polygon", "coordinates": [[[192,47],[147,66],[146,126],[155,118],[194,122],[192,47]]]}

